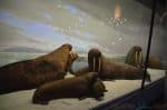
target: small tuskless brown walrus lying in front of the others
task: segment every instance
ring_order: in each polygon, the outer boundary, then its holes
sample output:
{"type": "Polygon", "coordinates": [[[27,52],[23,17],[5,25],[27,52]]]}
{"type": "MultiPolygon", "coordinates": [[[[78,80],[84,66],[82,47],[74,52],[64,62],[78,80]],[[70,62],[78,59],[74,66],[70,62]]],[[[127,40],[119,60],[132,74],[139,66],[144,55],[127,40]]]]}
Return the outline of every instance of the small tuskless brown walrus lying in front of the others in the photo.
{"type": "Polygon", "coordinates": [[[32,102],[48,104],[50,100],[62,98],[95,98],[99,100],[106,92],[106,87],[96,72],[85,76],[51,81],[39,87],[32,97],[32,102]]]}

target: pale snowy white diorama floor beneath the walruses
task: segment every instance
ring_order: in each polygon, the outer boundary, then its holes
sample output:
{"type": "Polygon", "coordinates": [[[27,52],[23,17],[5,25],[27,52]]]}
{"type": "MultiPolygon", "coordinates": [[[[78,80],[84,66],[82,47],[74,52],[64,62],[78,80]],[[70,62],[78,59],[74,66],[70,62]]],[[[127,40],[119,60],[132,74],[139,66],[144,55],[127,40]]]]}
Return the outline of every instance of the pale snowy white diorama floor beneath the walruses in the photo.
{"type": "MultiPolygon", "coordinates": [[[[148,72],[151,76],[151,82],[165,77],[165,70],[148,69],[148,72]]],[[[105,93],[104,100],[101,101],[97,101],[92,98],[86,98],[84,100],[57,99],[50,101],[48,106],[33,104],[31,102],[35,92],[33,89],[1,94],[0,110],[87,110],[129,93],[130,91],[140,88],[141,84],[141,80],[114,80],[104,82],[108,92],[105,93]]],[[[146,82],[146,84],[149,84],[149,82],[146,82]]]]}

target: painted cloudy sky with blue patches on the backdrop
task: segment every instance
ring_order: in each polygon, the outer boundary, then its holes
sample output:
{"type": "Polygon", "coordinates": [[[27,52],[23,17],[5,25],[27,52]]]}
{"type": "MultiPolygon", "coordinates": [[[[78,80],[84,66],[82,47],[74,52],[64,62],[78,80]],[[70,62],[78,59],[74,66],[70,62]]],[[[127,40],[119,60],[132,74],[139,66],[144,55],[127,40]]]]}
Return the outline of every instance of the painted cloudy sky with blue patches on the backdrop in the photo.
{"type": "Polygon", "coordinates": [[[0,49],[51,51],[68,42],[79,52],[126,54],[135,44],[146,48],[149,19],[134,0],[1,0],[0,49]]]}

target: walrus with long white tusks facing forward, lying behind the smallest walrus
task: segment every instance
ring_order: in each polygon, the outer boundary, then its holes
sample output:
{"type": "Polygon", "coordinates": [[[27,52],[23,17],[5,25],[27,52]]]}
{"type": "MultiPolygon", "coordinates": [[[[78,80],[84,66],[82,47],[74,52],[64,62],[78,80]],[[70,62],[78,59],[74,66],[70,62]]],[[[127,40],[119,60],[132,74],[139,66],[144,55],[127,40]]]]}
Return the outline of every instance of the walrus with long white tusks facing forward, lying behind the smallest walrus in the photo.
{"type": "MultiPolygon", "coordinates": [[[[141,79],[144,70],[122,62],[114,62],[105,58],[98,49],[91,49],[88,52],[88,67],[85,67],[76,72],[75,76],[82,76],[87,72],[98,72],[102,80],[136,80],[141,79]]],[[[147,73],[147,81],[150,81],[150,76],[147,73]]]]}

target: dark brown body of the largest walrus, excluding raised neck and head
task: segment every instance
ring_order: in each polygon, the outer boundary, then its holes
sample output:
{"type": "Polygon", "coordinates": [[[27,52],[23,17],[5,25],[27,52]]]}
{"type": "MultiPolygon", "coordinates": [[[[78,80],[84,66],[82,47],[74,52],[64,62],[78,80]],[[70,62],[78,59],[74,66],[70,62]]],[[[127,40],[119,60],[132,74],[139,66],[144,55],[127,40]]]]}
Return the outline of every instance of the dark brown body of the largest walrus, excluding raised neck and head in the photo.
{"type": "Polygon", "coordinates": [[[27,60],[0,68],[0,93],[37,88],[48,81],[63,79],[66,72],[59,66],[43,61],[27,60]]]}

